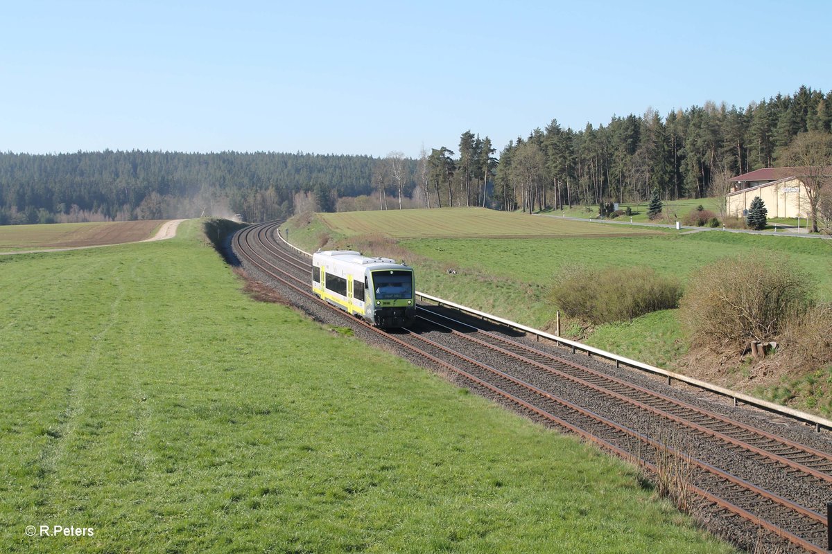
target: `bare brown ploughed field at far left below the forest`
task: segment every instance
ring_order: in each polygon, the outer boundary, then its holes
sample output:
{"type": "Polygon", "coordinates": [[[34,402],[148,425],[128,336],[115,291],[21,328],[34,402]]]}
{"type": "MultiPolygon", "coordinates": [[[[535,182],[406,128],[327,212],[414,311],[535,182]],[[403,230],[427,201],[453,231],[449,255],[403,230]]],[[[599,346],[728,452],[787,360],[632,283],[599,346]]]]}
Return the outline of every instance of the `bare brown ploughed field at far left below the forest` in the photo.
{"type": "Polygon", "coordinates": [[[2,226],[0,252],[136,243],[152,238],[164,223],[166,222],[160,220],[146,220],[2,226]]]}

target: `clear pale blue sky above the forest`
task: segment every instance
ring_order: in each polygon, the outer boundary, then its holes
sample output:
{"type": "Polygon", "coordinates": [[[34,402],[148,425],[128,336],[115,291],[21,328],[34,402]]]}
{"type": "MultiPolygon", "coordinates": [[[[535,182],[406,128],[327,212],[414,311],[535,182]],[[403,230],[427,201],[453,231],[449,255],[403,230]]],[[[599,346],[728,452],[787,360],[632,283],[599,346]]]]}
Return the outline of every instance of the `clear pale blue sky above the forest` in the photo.
{"type": "Polygon", "coordinates": [[[832,89],[832,2],[4,2],[0,151],[370,154],[832,89]]]}

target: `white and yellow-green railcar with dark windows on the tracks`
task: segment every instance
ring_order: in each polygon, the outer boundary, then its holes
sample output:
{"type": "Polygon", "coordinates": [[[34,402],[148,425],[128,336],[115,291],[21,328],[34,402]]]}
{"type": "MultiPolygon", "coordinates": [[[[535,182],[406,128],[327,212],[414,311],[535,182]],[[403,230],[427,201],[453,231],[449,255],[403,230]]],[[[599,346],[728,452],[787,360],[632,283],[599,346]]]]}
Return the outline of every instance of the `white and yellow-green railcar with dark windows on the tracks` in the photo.
{"type": "Polygon", "coordinates": [[[379,327],[401,327],[414,320],[413,267],[387,257],[352,250],[312,255],[312,292],[322,300],[379,327]]]}

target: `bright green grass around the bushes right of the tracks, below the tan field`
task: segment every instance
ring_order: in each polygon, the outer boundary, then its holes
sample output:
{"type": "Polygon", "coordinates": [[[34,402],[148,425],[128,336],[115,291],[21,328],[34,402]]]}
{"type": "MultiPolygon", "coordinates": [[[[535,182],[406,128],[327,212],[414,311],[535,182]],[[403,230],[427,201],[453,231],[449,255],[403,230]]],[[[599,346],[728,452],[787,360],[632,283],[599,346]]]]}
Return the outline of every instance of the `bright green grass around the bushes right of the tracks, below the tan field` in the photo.
{"type": "MultiPolygon", "coordinates": [[[[821,299],[832,299],[832,245],[813,239],[714,232],[646,238],[412,239],[402,244],[435,260],[418,264],[419,290],[541,328],[551,325],[555,310],[547,302],[548,284],[567,264],[645,264],[685,282],[691,272],[719,257],[778,252],[815,278],[821,299]],[[448,267],[458,273],[448,275],[448,267]]],[[[661,367],[686,352],[675,311],[602,326],[587,343],[661,367]]]]}

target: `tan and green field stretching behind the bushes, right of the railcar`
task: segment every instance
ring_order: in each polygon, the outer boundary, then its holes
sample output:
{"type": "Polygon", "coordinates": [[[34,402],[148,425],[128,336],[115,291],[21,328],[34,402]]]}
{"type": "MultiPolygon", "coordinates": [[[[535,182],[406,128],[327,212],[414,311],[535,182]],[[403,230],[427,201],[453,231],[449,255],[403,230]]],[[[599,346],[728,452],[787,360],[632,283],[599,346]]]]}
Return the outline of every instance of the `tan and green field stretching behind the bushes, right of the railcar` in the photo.
{"type": "MultiPolygon", "coordinates": [[[[440,296],[470,296],[475,282],[492,282],[498,289],[517,289],[519,282],[528,302],[521,302],[513,311],[515,315],[527,313],[530,302],[543,302],[547,285],[565,265],[646,265],[686,282],[699,267],[740,254],[785,256],[815,279],[820,299],[832,300],[832,243],[817,239],[720,231],[651,233],[649,228],[629,226],[622,233],[622,226],[617,225],[532,218],[481,208],[325,213],[319,214],[312,228],[314,231],[293,229],[292,242],[314,249],[323,242],[321,237],[327,236],[333,243],[360,244],[362,234],[396,239],[428,263],[427,272],[419,272],[420,290],[440,296]],[[456,238],[445,236],[454,232],[458,233],[456,238]],[[436,238],[438,234],[442,237],[436,238]],[[444,271],[448,267],[463,272],[448,275],[444,271]]],[[[493,292],[485,296],[488,302],[499,302],[493,292]]],[[[508,305],[517,305],[517,301],[512,298],[508,305]]],[[[533,324],[545,325],[552,314],[541,312],[539,316],[532,319],[533,324]]]]}

